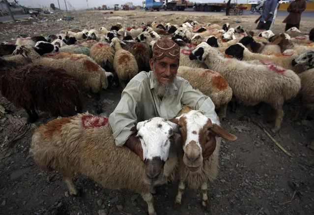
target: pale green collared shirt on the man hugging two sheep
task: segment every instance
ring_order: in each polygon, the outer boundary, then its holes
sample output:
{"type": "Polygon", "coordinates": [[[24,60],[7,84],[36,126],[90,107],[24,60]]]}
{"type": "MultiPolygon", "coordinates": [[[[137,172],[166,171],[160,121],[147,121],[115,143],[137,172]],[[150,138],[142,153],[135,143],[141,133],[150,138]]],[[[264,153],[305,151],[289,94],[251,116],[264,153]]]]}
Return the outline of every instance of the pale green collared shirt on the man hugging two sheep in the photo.
{"type": "Polygon", "coordinates": [[[109,125],[113,132],[115,145],[123,146],[134,131],[131,128],[138,122],[153,117],[171,119],[176,117],[183,105],[200,110],[213,123],[219,123],[212,100],[192,88],[190,83],[176,77],[173,92],[161,100],[155,92],[150,72],[140,72],[125,87],[121,99],[109,116],[109,125]]]}

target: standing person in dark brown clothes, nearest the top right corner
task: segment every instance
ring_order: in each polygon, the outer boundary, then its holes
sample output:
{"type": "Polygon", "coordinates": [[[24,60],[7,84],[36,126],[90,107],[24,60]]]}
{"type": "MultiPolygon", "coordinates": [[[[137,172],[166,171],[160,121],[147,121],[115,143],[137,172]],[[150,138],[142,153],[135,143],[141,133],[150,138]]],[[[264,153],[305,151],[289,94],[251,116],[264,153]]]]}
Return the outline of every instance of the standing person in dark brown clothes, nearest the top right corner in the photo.
{"type": "Polygon", "coordinates": [[[300,29],[301,13],[306,9],[305,0],[295,0],[287,8],[289,15],[285,18],[285,31],[292,27],[300,29]]]}

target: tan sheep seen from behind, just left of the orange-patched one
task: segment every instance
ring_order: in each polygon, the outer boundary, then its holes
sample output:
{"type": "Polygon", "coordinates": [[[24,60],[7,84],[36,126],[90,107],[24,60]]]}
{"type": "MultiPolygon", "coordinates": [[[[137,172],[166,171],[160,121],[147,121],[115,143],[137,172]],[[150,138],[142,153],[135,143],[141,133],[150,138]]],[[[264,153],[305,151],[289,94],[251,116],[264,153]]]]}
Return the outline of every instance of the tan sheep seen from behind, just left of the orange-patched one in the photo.
{"type": "Polygon", "coordinates": [[[95,43],[90,48],[90,57],[106,71],[114,71],[114,49],[108,43],[95,43]]]}

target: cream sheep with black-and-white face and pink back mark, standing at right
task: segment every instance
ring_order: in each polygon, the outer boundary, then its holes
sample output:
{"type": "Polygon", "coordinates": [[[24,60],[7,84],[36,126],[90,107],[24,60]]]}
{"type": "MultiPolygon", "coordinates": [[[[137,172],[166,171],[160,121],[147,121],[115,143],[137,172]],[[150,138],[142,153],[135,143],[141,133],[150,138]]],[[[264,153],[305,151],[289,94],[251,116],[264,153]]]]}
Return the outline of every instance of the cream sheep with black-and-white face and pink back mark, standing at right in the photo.
{"type": "Polygon", "coordinates": [[[190,60],[204,61],[228,82],[235,99],[245,105],[270,104],[277,117],[273,132],[279,131],[284,117],[284,101],[294,97],[301,88],[300,78],[292,71],[274,64],[250,64],[225,59],[216,48],[202,42],[190,54],[190,60]]]}

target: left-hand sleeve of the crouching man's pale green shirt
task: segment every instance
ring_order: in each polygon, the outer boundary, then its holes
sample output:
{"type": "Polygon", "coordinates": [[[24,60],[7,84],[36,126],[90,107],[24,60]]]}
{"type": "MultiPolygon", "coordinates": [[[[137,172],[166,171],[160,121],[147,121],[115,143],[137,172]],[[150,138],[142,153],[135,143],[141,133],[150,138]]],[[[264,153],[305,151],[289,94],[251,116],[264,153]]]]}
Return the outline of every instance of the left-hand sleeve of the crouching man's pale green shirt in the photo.
{"type": "Polygon", "coordinates": [[[131,80],[122,92],[121,99],[114,112],[109,116],[109,125],[116,146],[123,146],[134,133],[131,128],[137,123],[141,86],[141,82],[131,80]]]}

